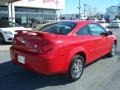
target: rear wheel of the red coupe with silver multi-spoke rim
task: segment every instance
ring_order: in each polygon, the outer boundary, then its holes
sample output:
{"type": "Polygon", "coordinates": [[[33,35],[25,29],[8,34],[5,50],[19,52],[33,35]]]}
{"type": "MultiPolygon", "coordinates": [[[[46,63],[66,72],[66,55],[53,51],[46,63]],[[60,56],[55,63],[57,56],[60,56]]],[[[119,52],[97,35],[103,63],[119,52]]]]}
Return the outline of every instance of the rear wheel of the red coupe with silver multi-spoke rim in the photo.
{"type": "Polygon", "coordinates": [[[81,77],[84,70],[83,61],[84,61],[84,58],[81,55],[75,55],[73,57],[73,60],[69,66],[69,70],[67,73],[67,78],[70,81],[76,81],[81,77]]]}

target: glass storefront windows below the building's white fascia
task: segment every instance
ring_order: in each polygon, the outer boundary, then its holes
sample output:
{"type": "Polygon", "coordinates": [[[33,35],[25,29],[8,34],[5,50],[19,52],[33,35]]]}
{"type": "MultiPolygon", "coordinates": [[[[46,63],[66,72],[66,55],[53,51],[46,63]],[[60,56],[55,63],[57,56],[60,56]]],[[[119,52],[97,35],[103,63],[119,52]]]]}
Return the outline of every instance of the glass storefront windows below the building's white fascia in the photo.
{"type": "MultiPolygon", "coordinates": [[[[0,20],[9,20],[7,6],[0,6],[0,20]]],[[[24,27],[33,27],[56,19],[55,9],[15,7],[15,22],[24,27]],[[29,23],[29,24],[28,24],[29,23]]]]}

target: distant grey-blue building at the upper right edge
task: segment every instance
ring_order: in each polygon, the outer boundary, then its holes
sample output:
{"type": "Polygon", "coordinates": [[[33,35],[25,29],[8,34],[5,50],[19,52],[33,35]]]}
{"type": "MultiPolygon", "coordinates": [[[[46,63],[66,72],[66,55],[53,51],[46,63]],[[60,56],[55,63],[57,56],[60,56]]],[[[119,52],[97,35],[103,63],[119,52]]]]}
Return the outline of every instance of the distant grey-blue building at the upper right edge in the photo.
{"type": "Polygon", "coordinates": [[[120,19],[120,6],[110,6],[106,9],[105,18],[109,20],[120,19]]]}

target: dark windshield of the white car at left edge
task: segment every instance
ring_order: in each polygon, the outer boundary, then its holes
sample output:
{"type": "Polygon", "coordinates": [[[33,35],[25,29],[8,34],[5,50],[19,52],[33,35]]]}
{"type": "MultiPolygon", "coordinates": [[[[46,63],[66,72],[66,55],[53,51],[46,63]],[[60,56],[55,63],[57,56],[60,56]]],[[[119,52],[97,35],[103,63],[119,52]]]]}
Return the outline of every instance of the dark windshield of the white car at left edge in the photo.
{"type": "Polygon", "coordinates": [[[17,23],[9,22],[9,21],[0,21],[0,28],[5,27],[21,27],[17,23]]]}

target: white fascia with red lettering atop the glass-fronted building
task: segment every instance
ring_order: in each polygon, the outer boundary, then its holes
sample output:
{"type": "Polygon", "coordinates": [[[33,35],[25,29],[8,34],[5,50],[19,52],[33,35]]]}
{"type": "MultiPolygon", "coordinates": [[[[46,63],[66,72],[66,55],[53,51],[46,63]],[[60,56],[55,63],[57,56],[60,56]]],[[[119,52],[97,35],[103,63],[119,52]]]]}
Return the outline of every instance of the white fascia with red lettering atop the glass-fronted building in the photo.
{"type": "Polygon", "coordinates": [[[64,0],[21,0],[14,2],[14,5],[20,7],[64,9],[64,2],[64,0]]]}

